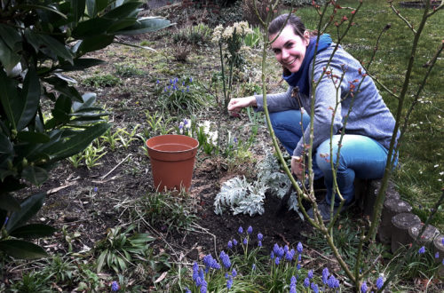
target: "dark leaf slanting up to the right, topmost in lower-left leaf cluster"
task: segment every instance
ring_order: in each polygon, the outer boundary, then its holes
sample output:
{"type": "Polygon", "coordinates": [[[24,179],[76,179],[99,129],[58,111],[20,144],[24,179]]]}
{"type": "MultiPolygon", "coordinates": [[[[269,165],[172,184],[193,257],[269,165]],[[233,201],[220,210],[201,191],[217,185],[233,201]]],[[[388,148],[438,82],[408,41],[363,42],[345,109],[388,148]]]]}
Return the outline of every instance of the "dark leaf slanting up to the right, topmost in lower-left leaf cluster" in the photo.
{"type": "Polygon", "coordinates": [[[8,233],[15,228],[25,224],[28,219],[36,215],[37,211],[42,208],[44,204],[44,193],[32,194],[25,201],[20,203],[20,211],[12,212],[8,224],[6,224],[6,231],[8,233]]]}

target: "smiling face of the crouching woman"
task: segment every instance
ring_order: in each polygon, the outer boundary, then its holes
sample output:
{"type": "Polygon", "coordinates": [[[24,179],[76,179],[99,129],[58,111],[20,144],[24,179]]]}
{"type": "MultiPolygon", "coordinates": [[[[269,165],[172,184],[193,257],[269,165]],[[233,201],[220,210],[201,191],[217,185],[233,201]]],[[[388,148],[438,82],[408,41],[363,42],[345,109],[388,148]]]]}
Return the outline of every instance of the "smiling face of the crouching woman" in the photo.
{"type": "MultiPolygon", "coordinates": [[[[272,41],[276,34],[271,35],[269,40],[272,41]]],[[[281,63],[281,65],[289,72],[295,73],[299,71],[302,61],[305,57],[306,46],[310,43],[310,35],[307,31],[304,37],[297,36],[291,26],[286,26],[282,29],[279,35],[272,44],[274,56],[281,63]]]]}

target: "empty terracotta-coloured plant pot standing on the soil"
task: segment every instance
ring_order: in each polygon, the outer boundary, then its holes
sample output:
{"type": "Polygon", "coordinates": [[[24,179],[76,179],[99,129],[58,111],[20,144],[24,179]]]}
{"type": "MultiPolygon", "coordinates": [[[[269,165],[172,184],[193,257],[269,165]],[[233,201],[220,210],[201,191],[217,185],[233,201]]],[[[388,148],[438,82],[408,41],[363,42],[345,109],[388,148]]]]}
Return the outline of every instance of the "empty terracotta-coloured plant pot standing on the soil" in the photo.
{"type": "Polygon", "coordinates": [[[155,188],[188,192],[199,141],[186,135],[167,134],[147,140],[155,188]]]}

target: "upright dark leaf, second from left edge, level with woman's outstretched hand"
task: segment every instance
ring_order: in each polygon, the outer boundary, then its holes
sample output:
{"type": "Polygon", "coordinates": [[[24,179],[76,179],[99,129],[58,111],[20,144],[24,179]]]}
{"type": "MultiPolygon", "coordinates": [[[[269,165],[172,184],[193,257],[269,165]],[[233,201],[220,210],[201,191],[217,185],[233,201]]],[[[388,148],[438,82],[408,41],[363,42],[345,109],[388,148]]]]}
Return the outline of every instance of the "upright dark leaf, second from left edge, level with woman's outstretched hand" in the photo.
{"type": "Polygon", "coordinates": [[[40,80],[34,67],[28,68],[20,98],[13,103],[17,130],[21,131],[36,117],[40,103],[40,80]]]}

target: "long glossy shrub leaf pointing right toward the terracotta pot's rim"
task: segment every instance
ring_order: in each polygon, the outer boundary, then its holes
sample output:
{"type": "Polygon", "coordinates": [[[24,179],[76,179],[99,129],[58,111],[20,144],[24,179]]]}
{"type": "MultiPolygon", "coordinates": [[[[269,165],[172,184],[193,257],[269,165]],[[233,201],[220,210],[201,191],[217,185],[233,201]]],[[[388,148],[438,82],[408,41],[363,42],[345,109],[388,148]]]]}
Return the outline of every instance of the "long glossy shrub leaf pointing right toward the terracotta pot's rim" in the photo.
{"type": "Polygon", "coordinates": [[[75,133],[71,139],[56,142],[52,147],[45,149],[45,152],[52,156],[53,162],[78,154],[88,147],[92,140],[105,133],[109,127],[111,125],[107,123],[93,125],[84,131],[75,133]]]}

